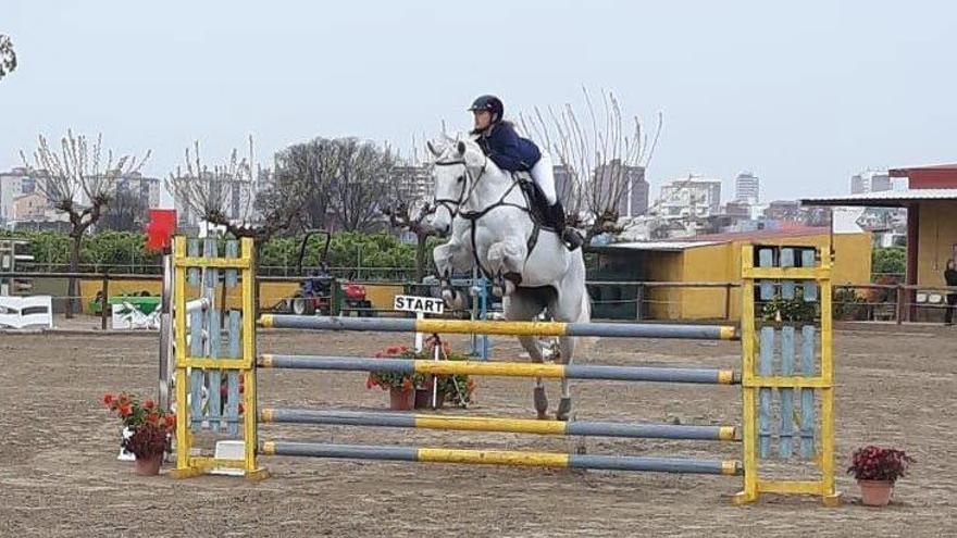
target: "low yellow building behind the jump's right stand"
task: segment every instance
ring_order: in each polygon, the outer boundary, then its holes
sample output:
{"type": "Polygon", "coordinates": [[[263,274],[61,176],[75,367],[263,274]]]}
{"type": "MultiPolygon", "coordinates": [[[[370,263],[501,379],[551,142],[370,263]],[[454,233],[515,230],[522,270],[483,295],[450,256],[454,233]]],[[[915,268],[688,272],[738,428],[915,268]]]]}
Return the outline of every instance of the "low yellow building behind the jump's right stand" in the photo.
{"type": "Polygon", "coordinates": [[[594,317],[737,320],[741,251],[747,243],[817,248],[832,245],[833,283],[870,283],[871,235],[866,232],[832,236],[829,228],[800,227],[616,243],[594,249],[598,254],[598,270],[589,275],[594,317]],[[641,289],[594,284],[601,280],[649,284],[641,289]],[[708,287],[694,288],[691,284],[708,287]]]}

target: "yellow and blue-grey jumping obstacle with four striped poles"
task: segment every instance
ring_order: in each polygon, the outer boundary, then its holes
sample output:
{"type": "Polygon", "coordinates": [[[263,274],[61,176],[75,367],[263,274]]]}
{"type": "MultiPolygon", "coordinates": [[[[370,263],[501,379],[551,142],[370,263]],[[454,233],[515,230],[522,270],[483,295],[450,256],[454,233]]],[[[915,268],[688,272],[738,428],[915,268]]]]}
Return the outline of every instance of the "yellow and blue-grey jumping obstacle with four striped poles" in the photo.
{"type": "MultiPolygon", "coordinates": [[[[831,257],[823,250],[816,266],[812,248],[746,247],[742,253],[742,372],[722,368],[608,366],[592,364],[533,364],[486,361],[409,361],[335,355],[256,354],[252,241],[225,242],[217,255],[215,240],[200,243],[177,237],[174,243],[174,339],[177,477],[216,468],[238,468],[262,478],[259,455],[390,460],[443,463],[651,471],[744,475],[735,502],[756,501],[760,493],[820,496],[825,504],[840,502],[834,489],[833,373],[831,361],[831,257]],[[241,248],[240,248],[241,247],[241,248]],[[759,266],[754,266],[758,253],[759,266]],[[222,283],[221,283],[222,281],[222,283]],[[238,301],[227,312],[217,303],[217,286],[238,301]],[[761,301],[818,304],[817,320],[756,322],[755,287],[761,301]],[[192,301],[206,308],[187,306],[192,301]],[[239,291],[238,298],[235,297],[239,291]],[[186,318],[190,317],[187,329],[186,318]],[[797,326],[799,325],[799,326],[797,326]],[[222,337],[217,337],[222,335],[222,337]],[[780,341],[780,345],[776,343],[780,341]],[[819,343],[818,343],[819,342],[819,343]],[[780,360],[774,361],[780,351],[780,360]],[[799,360],[795,364],[795,353],[799,360]],[[820,360],[818,360],[820,356],[820,360]],[[756,360],[759,358],[758,360],[756,360]],[[776,364],[775,364],[776,362],[776,364]],[[655,425],[587,421],[396,414],[381,412],[264,408],[257,400],[257,371],[297,368],[322,371],[394,372],[446,375],[547,377],[559,379],[741,385],[742,423],[738,426],[655,425]],[[773,395],[778,393],[775,398],[773,395]],[[240,406],[241,402],[241,406],[240,406]],[[795,405],[797,403],[797,405],[795,405]],[[796,423],[795,416],[799,418],[796,423]],[[426,428],[469,431],[561,435],[582,437],[656,438],[741,441],[742,461],[627,455],[566,454],[506,450],[459,450],[386,446],[352,446],[259,439],[259,423],[357,427],[426,428]],[[241,427],[240,427],[241,426],[241,427]],[[216,459],[197,453],[194,434],[202,429],[225,433],[244,441],[243,459],[216,459]],[[772,445],[776,440],[776,454],[772,445]],[[797,450],[795,450],[795,442],[797,450]],[[816,463],[813,479],[761,478],[759,460],[773,456],[791,463],[816,463]]],[[[195,303],[194,303],[195,304],[195,303]]],[[[783,310],[782,310],[783,311],[783,310]]],[[[773,315],[773,312],[771,313],[773,315]]],[[[765,317],[765,316],[762,316],[765,317]]],[[[264,315],[263,327],[311,330],[455,333],[487,335],[598,336],[623,338],[734,339],[734,327],[614,323],[486,322],[450,320],[351,318],[264,315]]],[[[795,465],[797,466],[797,465],[795,465]]]]}

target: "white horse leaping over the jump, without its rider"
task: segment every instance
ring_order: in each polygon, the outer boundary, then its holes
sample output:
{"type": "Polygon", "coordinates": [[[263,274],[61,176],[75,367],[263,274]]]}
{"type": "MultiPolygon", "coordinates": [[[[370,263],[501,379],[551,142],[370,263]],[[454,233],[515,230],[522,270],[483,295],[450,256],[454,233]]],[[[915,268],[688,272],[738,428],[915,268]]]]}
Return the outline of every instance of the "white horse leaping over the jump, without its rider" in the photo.
{"type": "MultiPolygon", "coordinates": [[[[558,234],[539,229],[530,216],[529,204],[518,179],[502,172],[471,139],[452,143],[428,143],[436,157],[434,210],[428,224],[448,242],[433,251],[443,280],[443,298],[462,303],[452,290],[452,272],[477,265],[504,291],[506,318],[533,321],[544,311],[557,322],[587,323],[591,302],[585,289],[582,250],[572,252],[558,234]]],[[[520,336],[522,347],[535,362],[544,362],[538,338],[520,336]]],[[[557,362],[571,364],[574,337],[559,337],[557,362]]],[[[538,418],[545,418],[548,399],[542,378],[534,390],[538,418]]],[[[569,380],[561,380],[561,401],[556,417],[567,421],[572,408],[569,380]]]]}

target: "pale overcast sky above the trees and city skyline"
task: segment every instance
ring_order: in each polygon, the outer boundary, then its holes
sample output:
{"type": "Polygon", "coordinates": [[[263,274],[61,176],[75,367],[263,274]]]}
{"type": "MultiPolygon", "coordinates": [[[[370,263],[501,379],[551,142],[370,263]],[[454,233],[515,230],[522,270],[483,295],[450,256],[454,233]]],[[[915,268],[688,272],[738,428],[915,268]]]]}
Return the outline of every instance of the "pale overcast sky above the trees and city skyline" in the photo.
{"type": "Polygon", "coordinates": [[[408,148],[478,93],[510,111],[614,90],[664,129],[652,196],[754,171],[766,199],[848,191],[866,167],[957,161],[953,2],[0,0],[0,170],[36,135],[102,132],[165,176],[257,140],[408,148]],[[838,5],[840,4],[840,5],[838,5]]]}

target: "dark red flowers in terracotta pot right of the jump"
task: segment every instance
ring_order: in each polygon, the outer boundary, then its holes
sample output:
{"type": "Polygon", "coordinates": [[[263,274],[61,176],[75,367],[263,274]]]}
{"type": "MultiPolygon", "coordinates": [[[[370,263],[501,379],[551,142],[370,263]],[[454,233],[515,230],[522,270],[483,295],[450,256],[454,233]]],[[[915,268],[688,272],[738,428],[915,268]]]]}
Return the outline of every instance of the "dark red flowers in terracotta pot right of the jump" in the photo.
{"type": "Polygon", "coordinates": [[[903,450],[869,446],[854,451],[847,473],[857,479],[863,504],[885,506],[891,502],[894,483],[913,461],[903,450]]]}

